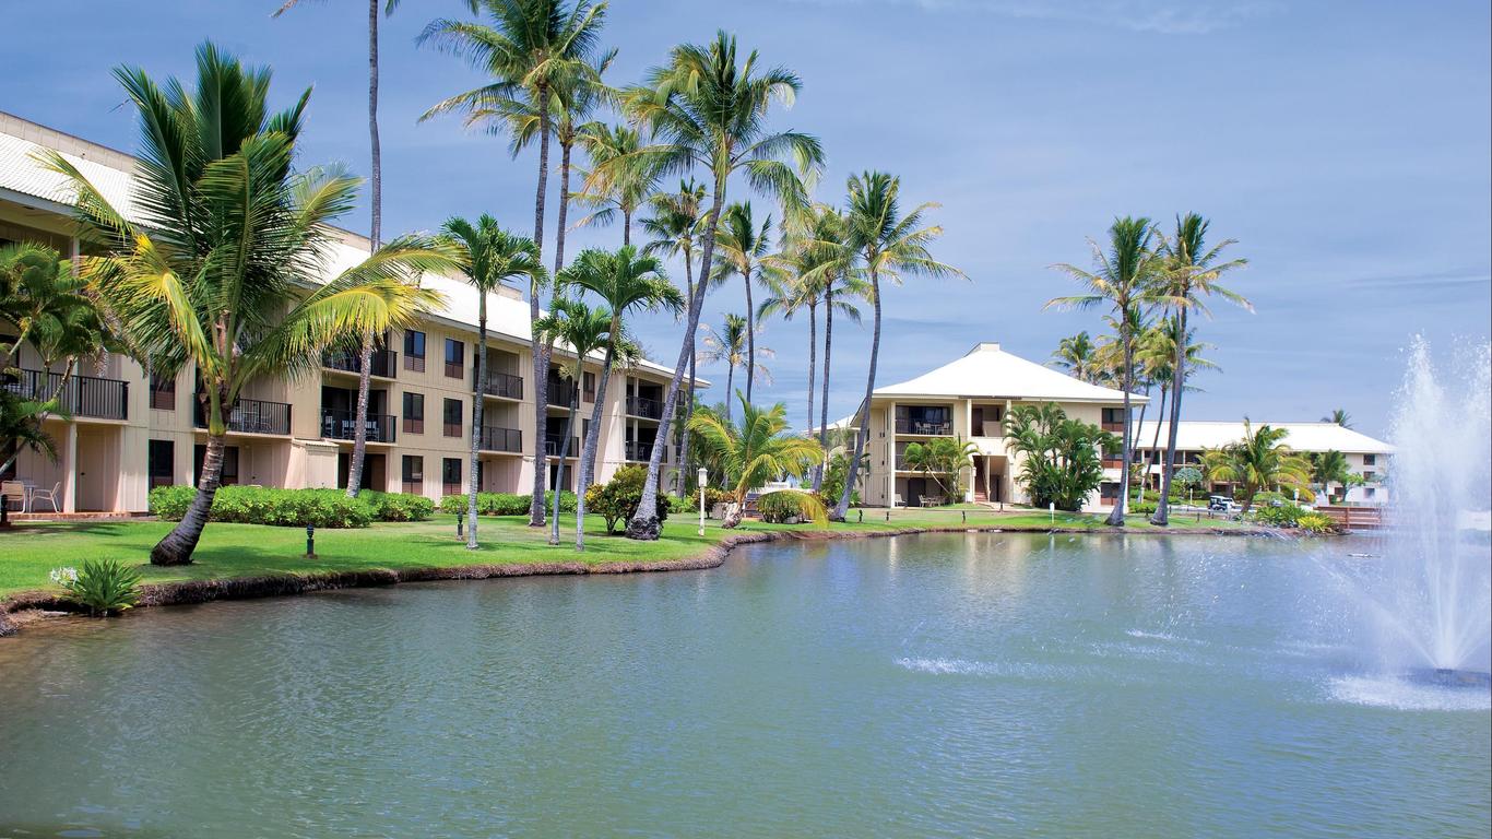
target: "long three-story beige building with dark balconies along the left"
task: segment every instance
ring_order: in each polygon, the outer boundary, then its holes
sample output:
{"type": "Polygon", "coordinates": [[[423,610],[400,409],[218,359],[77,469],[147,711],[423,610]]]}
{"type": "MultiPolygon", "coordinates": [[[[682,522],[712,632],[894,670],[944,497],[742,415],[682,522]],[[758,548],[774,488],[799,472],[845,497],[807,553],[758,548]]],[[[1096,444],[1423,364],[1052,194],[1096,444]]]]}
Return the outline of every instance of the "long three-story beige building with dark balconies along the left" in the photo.
{"type": "MultiPolygon", "coordinates": [[[[128,208],[134,158],[0,113],[0,242],[40,242],[76,257],[87,252],[87,245],[72,236],[72,196],[60,176],[36,161],[43,149],[67,155],[119,208],[128,208]]],[[[327,260],[333,273],[369,251],[360,236],[343,231],[339,239],[327,260]]],[[[560,369],[571,366],[573,355],[555,354],[548,421],[539,427],[528,305],[522,296],[503,290],[488,297],[483,348],[476,336],[477,293],[457,278],[427,275],[422,284],[442,291],[446,305],[412,328],[382,336],[372,364],[363,485],[439,499],[464,493],[474,479],[485,491],[527,493],[533,487],[534,434],[543,436],[548,454],[558,455],[567,406],[577,396],[580,412],[564,478],[564,487],[573,490],[597,399],[598,360],[588,360],[580,381],[570,381],[561,378],[560,369]],[[476,382],[477,352],[486,354],[485,384],[476,382]],[[485,403],[480,466],[468,475],[473,399],[485,403]]],[[[0,322],[0,334],[7,327],[0,322]]],[[[42,369],[31,348],[22,349],[16,366],[19,375],[0,387],[42,394],[54,390],[61,376],[60,369],[42,369]]],[[[233,409],[224,484],[345,487],[357,430],[357,370],[355,357],[328,355],[319,372],[300,381],[251,384],[233,409]]],[[[646,463],[653,446],[664,442],[658,428],[670,376],[668,367],[651,361],[613,372],[601,414],[598,481],[622,464],[646,463]]],[[[52,417],[46,422],[58,458],[21,452],[6,481],[58,487],[64,512],[145,511],[152,487],[195,482],[206,433],[192,370],[163,378],[130,358],[104,354],[84,363],[63,402],[70,418],[52,417]]],[[[677,446],[668,446],[670,470],[676,457],[677,446]]],[[[554,457],[551,487],[557,485],[557,469],[554,457]]]]}

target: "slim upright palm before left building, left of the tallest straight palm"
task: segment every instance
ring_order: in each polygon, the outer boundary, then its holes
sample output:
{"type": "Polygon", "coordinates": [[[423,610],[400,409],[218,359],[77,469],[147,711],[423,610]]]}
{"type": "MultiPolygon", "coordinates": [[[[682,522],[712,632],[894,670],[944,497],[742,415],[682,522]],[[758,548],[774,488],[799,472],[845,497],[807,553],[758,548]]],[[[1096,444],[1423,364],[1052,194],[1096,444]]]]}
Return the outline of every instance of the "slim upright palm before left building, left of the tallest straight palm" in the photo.
{"type": "Polygon", "coordinates": [[[503,230],[497,219],[483,213],[476,222],[451,218],[440,228],[442,239],[461,254],[463,273],[477,291],[476,305],[476,378],[471,388],[471,452],[467,487],[467,549],[476,551],[476,494],[479,451],[482,442],[482,409],[486,402],[486,297],[503,284],[527,279],[530,285],[543,285],[545,267],[540,264],[539,245],[533,239],[513,236],[503,230]]]}

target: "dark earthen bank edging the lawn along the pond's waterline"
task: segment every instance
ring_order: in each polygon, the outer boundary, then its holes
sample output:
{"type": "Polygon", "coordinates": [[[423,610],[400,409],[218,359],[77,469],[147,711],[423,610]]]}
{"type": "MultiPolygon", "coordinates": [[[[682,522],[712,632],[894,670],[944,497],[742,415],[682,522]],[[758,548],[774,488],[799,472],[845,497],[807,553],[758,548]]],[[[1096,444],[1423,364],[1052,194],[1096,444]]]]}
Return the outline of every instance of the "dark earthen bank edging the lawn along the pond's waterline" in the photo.
{"type": "MultiPolygon", "coordinates": [[[[1206,530],[1091,530],[1083,527],[892,527],[886,530],[756,530],[731,533],[704,551],[682,560],[659,560],[655,563],[603,560],[598,563],[483,563],[470,566],[424,566],[412,569],[364,569],[343,572],[318,572],[307,575],[263,575],[231,576],[221,579],[194,579],[182,582],[152,582],[140,587],[140,602],[136,609],[157,606],[191,606],[219,600],[257,600],[263,597],[289,597],[316,591],[342,588],[372,588],[398,585],[403,582],[471,581],[513,576],[583,576],[592,573],[661,573],[674,570],[706,570],[725,563],[730,552],[740,545],[765,542],[839,542],[850,539],[877,539],[895,536],[919,536],[927,533],[1068,533],[1098,536],[1270,536],[1259,528],[1206,528],[1206,530]]],[[[0,599],[0,637],[21,631],[22,627],[45,624],[52,620],[78,615],[78,608],[54,591],[21,591],[0,599]]]]}

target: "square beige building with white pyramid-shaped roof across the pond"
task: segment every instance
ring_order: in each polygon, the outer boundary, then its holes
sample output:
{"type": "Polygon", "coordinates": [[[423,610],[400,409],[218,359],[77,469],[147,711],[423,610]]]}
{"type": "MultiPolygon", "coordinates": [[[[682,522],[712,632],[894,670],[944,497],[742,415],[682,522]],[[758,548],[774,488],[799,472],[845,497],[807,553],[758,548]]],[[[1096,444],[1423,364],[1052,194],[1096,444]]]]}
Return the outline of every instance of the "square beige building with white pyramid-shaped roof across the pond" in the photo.
{"type": "MultiPolygon", "coordinates": [[[[876,388],[870,405],[870,469],[864,502],[873,506],[916,506],[937,485],[907,469],[906,449],[913,442],[961,437],[979,454],[962,475],[964,500],[1025,503],[1016,476],[1021,458],[1012,451],[1004,420],[1018,405],[1055,402],[1074,420],[1123,428],[1123,393],[1092,385],[979,343],[967,355],[906,382],[876,388]]],[[[1144,403],[1134,396],[1135,408],[1144,403]]],[[[1104,482],[1086,509],[1113,506],[1119,493],[1119,457],[1104,457],[1104,482]]]]}

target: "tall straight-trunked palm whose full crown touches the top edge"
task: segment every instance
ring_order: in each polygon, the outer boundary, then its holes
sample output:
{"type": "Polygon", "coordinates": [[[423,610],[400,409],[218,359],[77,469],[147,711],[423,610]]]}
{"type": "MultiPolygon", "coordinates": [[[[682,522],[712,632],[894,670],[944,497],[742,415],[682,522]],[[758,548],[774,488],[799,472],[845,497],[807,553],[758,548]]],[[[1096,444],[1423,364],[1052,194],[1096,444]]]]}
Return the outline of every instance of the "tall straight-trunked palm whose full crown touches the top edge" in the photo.
{"type": "MultiPolygon", "coordinates": [[[[591,0],[468,0],[482,7],[489,24],[440,18],[431,21],[419,36],[419,43],[433,43],[466,58],[485,72],[491,82],[439,102],[421,119],[437,113],[466,110],[468,122],[476,113],[504,107],[516,97],[528,102],[537,113],[539,184],[534,191],[534,243],[545,245],[545,193],[549,182],[549,137],[554,113],[551,97],[557,87],[583,78],[597,48],[606,1],[591,0]]],[[[485,119],[486,116],[480,116],[485,119]]],[[[549,345],[539,339],[536,324],[542,316],[539,288],[528,290],[528,322],[534,357],[534,427],[540,431],[548,420],[549,345]]],[[[545,457],[543,433],[534,434],[534,491],[528,524],[545,524],[545,457]]]]}

